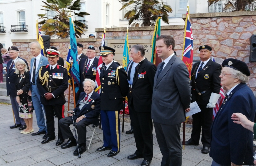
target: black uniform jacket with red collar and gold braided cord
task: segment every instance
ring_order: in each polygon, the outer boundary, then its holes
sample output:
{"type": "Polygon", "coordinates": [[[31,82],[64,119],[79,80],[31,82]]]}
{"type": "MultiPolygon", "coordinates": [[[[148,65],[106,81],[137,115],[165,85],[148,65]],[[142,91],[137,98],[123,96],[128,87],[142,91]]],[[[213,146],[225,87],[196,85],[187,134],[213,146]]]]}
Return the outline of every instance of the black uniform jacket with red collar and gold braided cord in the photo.
{"type": "Polygon", "coordinates": [[[68,71],[66,68],[61,67],[60,65],[57,65],[53,71],[50,71],[50,65],[45,65],[40,68],[41,73],[39,72],[39,76],[41,74],[41,77],[43,74],[48,71],[49,76],[52,76],[52,73],[63,73],[63,79],[57,79],[52,78],[52,80],[56,83],[58,86],[58,89],[51,91],[55,98],[52,98],[51,100],[46,100],[46,98],[43,96],[45,93],[49,92],[48,88],[55,88],[56,86],[52,83],[50,78],[48,78],[48,86],[46,87],[46,84],[42,85],[42,82],[39,77],[37,77],[36,85],[40,92],[40,101],[43,105],[64,105],[66,100],[64,97],[64,91],[68,89],[68,71]],[[42,70],[41,70],[42,68],[42,70]],[[59,69],[58,69],[59,68],[59,69]],[[46,90],[47,89],[47,90],[46,90]]]}

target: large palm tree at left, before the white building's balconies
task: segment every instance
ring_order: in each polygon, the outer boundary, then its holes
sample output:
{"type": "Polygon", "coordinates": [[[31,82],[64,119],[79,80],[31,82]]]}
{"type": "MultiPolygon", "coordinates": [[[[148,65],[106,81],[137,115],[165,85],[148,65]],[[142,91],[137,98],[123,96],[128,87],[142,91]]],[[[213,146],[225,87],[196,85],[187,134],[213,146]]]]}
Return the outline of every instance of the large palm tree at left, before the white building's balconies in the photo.
{"type": "MultiPolygon", "coordinates": [[[[46,35],[57,36],[57,38],[69,38],[70,11],[73,15],[80,17],[90,15],[86,12],[79,12],[81,9],[80,0],[76,0],[75,2],[72,2],[72,0],[46,0],[43,3],[45,4],[43,7],[46,9],[41,10],[52,12],[54,16],[51,18],[47,14],[37,14],[37,16],[43,19],[38,24],[42,25],[41,31],[44,31],[46,35]]],[[[76,38],[81,38],[86,27],[85,24],[74,20],[74,26],[76,38]]]]}

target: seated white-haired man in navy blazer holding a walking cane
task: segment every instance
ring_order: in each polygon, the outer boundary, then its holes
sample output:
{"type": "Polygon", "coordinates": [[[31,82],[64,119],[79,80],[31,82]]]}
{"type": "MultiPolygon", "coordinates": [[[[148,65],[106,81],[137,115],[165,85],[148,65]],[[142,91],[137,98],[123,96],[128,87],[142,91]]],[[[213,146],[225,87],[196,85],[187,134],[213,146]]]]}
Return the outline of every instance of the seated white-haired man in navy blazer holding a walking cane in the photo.
{"type": "MultiPolygon", "coordinates": [[[[91,79],[85,79],[83,82],[84,91],[80,93],[79,100],[76,104],[76,108],[73,110],[75,114],[69,114],[69,117],[60,119],[59,126],[63,135],[63,139],[69,139],[65,144],[61,145],[62,149],[76,146],[76,139],[74,138],[72,131],[69,128],[70,124],[73,124],[72,116],[76,121],[76,129],[78,134],[78,148],[80,154],[86,151],[86,126],[89,124],[98,125],[100,115],[100,95],[94,92],[96,84],[91,79]]],[[[73,153],[78,155],[78,149],[73,153]]]]}

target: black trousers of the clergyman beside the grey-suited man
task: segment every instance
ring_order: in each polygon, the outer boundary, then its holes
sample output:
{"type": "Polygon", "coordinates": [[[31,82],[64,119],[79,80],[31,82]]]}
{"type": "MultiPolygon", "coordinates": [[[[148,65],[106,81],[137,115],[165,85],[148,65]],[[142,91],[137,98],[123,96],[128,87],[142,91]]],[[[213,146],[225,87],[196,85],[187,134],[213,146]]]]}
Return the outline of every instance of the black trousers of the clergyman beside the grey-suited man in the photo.
{"type": "Polygon", "coordinates": [[[151,161],[153,157],[153,123],[151,112],[137,112],[133,104],[129,107],[130,118],[133,122],[136,155],[143,155],[144,160],[151,161]]]}

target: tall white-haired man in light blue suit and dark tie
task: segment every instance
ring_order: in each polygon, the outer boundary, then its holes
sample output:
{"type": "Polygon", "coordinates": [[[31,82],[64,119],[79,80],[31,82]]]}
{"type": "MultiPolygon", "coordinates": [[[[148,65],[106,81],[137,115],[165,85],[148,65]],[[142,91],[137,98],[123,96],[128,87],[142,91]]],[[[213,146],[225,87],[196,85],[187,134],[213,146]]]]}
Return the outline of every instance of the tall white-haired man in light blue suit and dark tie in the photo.
{"type": "Polygon", "coordinates": [[[38,132],[35,132],[31,134],[32,136],[37,136],[40,134],[45,134],[43,138],[46,136],[46,125],[45,125],[45,120],[44,120],[44,108],[43,105],[40,102],[40,93],[39,90],[36,86],[36,80],[38,77],[38,71],[41,66],[47,65],[48,64],[48,59],[47,57],[44,57],[41,55],[41,45],[39,42],[34,41],[29,44],[30,52],[31,54],[35,57],[31,59],[30,62],[30,91],[28,92],[29,95],[32,95],[32,102],[33,106],[35,109],[35,114],[36,114],[36,121],[37,121],[37,126],[39,128],[38,132]]]}

